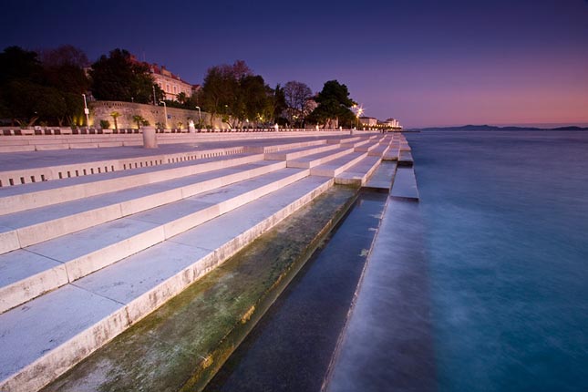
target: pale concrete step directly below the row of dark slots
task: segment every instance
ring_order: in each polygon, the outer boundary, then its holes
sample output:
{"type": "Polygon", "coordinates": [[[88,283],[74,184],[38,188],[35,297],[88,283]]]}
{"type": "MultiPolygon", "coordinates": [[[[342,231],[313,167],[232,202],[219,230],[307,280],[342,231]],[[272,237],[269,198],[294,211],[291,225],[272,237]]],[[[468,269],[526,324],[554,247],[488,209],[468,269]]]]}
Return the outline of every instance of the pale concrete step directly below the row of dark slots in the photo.
{"type": "Polygon", "coordinates": [[[26,211],[64,201],[88,198],[89,196],[125,190],[205,171],[229,168],[258,160],[263,160],[263,154],[235,154],[230,157],[217,156],[202,160],[185,160],[133,170],[109,170],[101,174],[84,175],[61,181],[35,182],[17,187],[2,188],[0,189],[0,215],[26,211]]]}

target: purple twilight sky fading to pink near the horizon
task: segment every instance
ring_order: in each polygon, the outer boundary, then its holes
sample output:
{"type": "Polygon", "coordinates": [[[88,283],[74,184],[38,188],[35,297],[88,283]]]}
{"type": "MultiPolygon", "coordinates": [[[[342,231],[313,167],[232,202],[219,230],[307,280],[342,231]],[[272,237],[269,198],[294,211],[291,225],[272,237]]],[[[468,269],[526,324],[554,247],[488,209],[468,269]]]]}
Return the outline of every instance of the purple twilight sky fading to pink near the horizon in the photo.
{"type": "Polygon", "coordinates": [[[244,60],[272,87],[345,83],[407,127],[588,124],[587,0],[7,0],[0,49],[115,47],[191,83],[244,60]],[[98,6],[100,4],[100,6],[98,6]]]}

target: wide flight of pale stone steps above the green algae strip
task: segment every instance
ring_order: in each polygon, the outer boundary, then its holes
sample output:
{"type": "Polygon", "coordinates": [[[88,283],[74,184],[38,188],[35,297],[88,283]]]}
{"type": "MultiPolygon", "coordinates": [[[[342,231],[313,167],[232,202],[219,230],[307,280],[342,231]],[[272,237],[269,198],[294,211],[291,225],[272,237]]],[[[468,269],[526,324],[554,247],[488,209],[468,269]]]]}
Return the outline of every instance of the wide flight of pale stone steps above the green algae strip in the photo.
{"type": "Polygon", "coordinates": [[[0,390],[44,387],[335,183],[409,155],[368,134],[0,188],[0,390]]]}

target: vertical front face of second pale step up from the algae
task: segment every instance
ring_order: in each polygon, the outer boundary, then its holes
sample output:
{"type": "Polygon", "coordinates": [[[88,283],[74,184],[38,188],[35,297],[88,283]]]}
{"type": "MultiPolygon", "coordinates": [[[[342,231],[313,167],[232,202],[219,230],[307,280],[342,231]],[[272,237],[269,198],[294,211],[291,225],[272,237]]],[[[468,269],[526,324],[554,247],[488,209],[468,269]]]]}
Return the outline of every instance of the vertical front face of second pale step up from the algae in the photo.
{"type": "MultiPolygon", "coordinates": [[[[129,238],[120,239],[119,242],[113,242],[97,251],[83,254],[67,262],[57,262],[60,264],[53,268],[28,276],[13,284],[0,287],[0,299],[2,299],[0,301],[0,314],[21,304],[26,304],[26,302],[65,284],[73,283],[90,273],[108,267],[108,265],[118,263],[132,254],[144,251],[150,246],[169,241],[170,238],[181,232],[188,231],[204,222],[211,221],[224,213],[235,210],[244,204],[290,185],[295,181],[302,180],[304,177],[308,177],[309,174],[309,170],[300,170],[283,179],[270,182],[251,191],[246,191],[232,199],[211,204],[190,215],[151,227],[129,238]]],[[[46,257],[42,254],[39,255],[46,257]]]]}

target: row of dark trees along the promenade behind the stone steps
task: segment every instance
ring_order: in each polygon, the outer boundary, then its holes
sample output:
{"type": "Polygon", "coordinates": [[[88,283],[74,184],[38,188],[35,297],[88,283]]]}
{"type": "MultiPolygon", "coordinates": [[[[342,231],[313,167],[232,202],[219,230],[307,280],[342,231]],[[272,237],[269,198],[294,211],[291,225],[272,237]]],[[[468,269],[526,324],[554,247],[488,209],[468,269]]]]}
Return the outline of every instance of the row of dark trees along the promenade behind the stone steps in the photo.
{"type": "MultiPolygon", "coordinates": [[[[0,122],[4,124],[83,125],[83,94],[144,104],[164,100],[149,65],[124,49],[114,49],[94,63],[74,46],[39,51],[10,46],[0,53],[0,122]]],[[[171,108],[200,107],[233,128],[273,123],[297,128],[351,126],[356,120],[351,111],[355,102],[346,85],[330,80],[318,94],[298,81],[271,88],[242,60],[210,67],[195,94],[180,93],[176,100],[165,102],[171,108]]]]}

